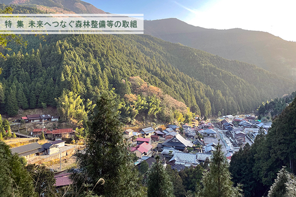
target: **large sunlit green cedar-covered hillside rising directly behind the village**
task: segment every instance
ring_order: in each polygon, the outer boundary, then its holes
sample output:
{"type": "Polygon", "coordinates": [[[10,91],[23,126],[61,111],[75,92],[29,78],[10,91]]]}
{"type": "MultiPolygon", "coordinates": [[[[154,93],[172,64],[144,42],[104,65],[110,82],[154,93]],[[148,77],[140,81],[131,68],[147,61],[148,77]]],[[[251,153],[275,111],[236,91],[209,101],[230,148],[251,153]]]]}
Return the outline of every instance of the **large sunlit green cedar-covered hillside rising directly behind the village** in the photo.
{"type": "Polygon", "coordinates": [[[10,116],[16,115],[18,108],[56,106],[55,98],[63,90],[93,101],[102,92],[112,91],[123,118],[133,119],[133,110],[141,105],[143,114],[170,122],[177,109],[167,106],[165,95],[208,117],[222,108],[225,114],[251,111],[262,101],[295,88],[292,81],[256,66],[149,35],[48,35],[46,41],[38,36],[24,38],[27,48],[11,45],[6,60],[0,60],[0,102],[2,113],[10,116]],[[160,88],[161,95],[139,92],[142,82],[132,87],[130,77],[137,76],[147,87],[160,88]],[[137,105],[128,95],[144,101],[137,105]]]}

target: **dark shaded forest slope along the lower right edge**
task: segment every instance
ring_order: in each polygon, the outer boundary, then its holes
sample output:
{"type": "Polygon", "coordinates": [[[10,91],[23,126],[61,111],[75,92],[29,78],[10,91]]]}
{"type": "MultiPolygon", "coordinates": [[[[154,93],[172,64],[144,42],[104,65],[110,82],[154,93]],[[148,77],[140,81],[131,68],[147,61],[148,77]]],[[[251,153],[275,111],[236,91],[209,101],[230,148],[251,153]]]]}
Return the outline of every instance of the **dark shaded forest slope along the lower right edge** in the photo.
{"type": "Polygon", "coordinates": [[[260,132],[255,143],[231,157],[229,171],[235,184],[243,184],[245,197],[267,194],[282,166],[296,172],[296,100],[272,122],[268,134],[260,132]]]}

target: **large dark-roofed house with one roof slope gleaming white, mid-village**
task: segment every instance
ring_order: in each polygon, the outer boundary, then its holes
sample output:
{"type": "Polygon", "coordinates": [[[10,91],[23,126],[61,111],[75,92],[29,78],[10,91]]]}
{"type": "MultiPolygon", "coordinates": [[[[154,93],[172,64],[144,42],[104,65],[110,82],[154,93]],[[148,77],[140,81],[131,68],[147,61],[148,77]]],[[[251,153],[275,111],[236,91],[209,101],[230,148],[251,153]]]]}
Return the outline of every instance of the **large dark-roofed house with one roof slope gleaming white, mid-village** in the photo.
{"type": "Polygon", "coordinates": [[[177,133],[173,138],[167,139],[165,142],[163,142],[162,146],[173,147],[177,150],[186,152],[187,147],[192,147],[193,143],[184,139],[184,137],[182,137],[182,135],[177,133]]]}

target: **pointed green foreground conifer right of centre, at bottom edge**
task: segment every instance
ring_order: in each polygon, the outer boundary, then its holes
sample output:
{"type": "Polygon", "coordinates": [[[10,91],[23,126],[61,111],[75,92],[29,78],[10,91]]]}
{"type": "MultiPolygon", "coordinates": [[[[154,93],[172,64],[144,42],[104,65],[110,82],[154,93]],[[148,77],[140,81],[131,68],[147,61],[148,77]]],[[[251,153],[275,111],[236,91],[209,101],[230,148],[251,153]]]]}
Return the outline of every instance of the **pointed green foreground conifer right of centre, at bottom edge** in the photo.
{"type": "Polygon", "coordinates": [[[204,172],[198,197],[243,197],[240,186],[233,187],[228,166],[222,152],[222,144],[219,142],[213,153],[209,171],[204,172]]]}

